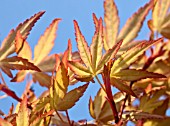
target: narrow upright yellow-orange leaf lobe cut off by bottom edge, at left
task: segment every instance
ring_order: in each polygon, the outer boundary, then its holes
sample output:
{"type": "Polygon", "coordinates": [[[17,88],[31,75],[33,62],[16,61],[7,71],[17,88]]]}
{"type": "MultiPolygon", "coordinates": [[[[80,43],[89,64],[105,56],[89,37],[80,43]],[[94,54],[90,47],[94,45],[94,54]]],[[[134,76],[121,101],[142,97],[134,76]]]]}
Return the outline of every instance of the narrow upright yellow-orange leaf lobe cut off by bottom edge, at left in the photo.
{"type": "Polygon", "coordinates": [[[29,126],[29,113],[28,113],[28,108],[27,108],[26,96],[24,96],[20,104],[18,116],[16,117],[16,123],[17,123],[17,126],[29,126]]]}

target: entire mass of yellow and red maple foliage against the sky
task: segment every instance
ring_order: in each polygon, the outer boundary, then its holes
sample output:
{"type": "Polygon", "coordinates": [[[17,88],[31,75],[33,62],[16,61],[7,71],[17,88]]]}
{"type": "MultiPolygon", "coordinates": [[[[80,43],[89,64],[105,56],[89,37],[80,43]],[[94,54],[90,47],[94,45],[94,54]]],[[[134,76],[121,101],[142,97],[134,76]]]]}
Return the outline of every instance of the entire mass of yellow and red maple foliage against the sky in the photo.
{"type": "Polygon", "coordinates": [[[16,109],[12,104],[8,114],[0,111],[0,125],[120,126],[129,121],[137,126],[167,125],[170,122],[166,115],[170,105],[169,9],[169,0],[150,0],[119,29],[117,6],[113,0],[105,0],[104,19],[93,14],[95,32],[91,44],[74,20],[78,51],[72,52],[69,39],[65,52],[52,55],[49,54],[61,19],[51,22],[34,53],[27,37],[45,12],[20,23],[0,48],[0,91],[18,101],[16,109]],[[149,39],[136,41],[150,11],[149,39]],[[13,70],[17,70],[16,75],[13,70]],[[11,82],[22,82],[31,75],[21,98],[8,87],[4,74],[11,82]],[[79,81],[85,84],[68,90],[79,81]],[[38,98],[31,89],[35,82],[47,89],[38,98]],[[68,109],[76,105],[91,83],[101,87],[96,96],[87,101],[94,120],[70,120],[68,109]]]}

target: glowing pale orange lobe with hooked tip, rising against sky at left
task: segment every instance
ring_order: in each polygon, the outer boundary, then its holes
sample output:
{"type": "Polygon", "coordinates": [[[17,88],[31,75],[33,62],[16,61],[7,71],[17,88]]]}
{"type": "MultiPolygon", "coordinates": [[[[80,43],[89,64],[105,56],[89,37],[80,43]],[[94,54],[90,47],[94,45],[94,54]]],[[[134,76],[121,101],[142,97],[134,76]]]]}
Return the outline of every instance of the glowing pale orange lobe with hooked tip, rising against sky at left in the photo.
{"type": "Polygon", "coordinates": [[[46,29],[34,49],[34,63],[39,64],[51,51],[56,38],[56,30],[60,19],[55,19],[46,29]],[[48,46],[47,46],[48,45],[48,46]]]}

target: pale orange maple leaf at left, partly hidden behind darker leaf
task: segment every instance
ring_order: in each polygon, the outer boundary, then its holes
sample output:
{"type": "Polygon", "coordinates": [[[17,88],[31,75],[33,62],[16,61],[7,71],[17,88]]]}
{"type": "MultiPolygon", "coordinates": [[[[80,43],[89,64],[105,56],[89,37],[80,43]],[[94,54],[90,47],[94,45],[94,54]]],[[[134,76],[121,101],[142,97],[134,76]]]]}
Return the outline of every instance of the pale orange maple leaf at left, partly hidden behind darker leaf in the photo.
{"type": "MultiPolygon", "coordinates": [[[[54,46],[54,40],[56,38],[56,30],[58,28],[58,23],[60,19],[55,19],[52,21],[50,26],[45,30],[44,35],[42,35],[38,41],[38,44],[35,46],[34,49],[34,59],[31,59],[31,56],[27,56],[28,54],[31,55],[31,50],[29,49],[29,46],[27,43],[23,43],[24,46],[20,50],[18,55],[21,55],[22,57],[27,57],[28,60],[32,61],[39,69],[41,69],[42,73],[39,72],[30,72],[30,71],[19,71],[17,75],[11,80],[12,82],[20,82],[23,81],[27,73],[31,73],[33,76],[34,82],[38,81],[40,85],[49,87],[51,84],[50,76],[46,74],[45,72],[51,72],[54,69],[55,65],[55,56],[51,55],[48,56],[50,53],[52,47],[54,46]],[[48,47],[46,46],[48,44],[48,47]],[[27,48],[27,49],[26,49],[27,48]],[[24,51],[27,50],[28,54],[25,54],[24,51]],[[43,78],[43,80],[42,80],[43,78]]],[[[18,35],[18,38],[16,38],[16,52],[18,52],[18,49],[21,48],[21,42],[22,36],[18,35]]]]}

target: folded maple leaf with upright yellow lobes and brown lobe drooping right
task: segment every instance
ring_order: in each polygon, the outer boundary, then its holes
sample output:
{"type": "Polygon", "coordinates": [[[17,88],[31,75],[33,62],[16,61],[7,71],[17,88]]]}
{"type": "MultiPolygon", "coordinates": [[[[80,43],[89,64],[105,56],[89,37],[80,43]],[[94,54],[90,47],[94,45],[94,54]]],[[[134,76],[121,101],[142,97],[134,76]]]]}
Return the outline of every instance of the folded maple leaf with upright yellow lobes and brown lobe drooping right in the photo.
{"type": "Polygon", "coordinates": [[[56,111],[66,111],[75,105],[87,89],[88,84],[67,92],[69,86],[68,71],[58,55],[56,55],[56,59],[58,62],[56,62],[56,76],[52,78],[53,83],[50,87],[50,105],[56,111]]]}

